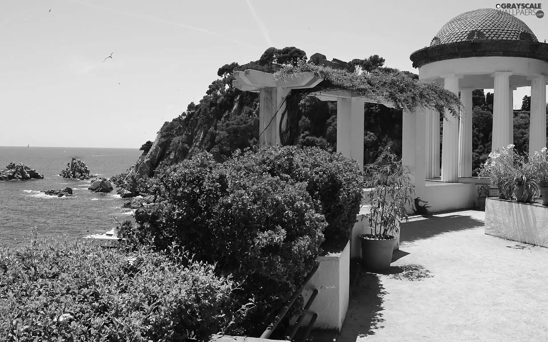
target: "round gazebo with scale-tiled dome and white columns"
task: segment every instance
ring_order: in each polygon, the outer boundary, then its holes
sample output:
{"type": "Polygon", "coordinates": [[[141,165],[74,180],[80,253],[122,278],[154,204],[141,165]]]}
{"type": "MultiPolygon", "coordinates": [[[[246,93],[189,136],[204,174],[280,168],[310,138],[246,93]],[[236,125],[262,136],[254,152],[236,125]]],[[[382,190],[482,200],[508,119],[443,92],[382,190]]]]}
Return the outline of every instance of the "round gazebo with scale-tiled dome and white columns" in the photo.
{"type": "MultiPolygon", "coordinates": [[[[443,123],[441,181],[461,182],[472,175],[472,90],[494,89],[492,149],[513,142],[513,90],[531,86],[529,152],[546,146],[548,44],[515,16],[477,9],[443,25],[430,47],[410,59],[419,78],[458,94],[466,108],[443,123]]],[[[426,111],[426,179],[440,177],[439,113],[426,111]]]]}

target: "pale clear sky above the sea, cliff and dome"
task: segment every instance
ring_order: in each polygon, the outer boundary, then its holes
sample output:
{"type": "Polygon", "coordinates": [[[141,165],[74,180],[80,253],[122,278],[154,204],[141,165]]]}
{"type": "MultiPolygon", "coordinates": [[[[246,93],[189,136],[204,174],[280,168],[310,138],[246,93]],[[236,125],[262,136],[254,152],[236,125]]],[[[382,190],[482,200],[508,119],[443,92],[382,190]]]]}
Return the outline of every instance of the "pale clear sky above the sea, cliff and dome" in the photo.
{"type": "MultiPolygon", "coordinates": [[[[0,146],[139,148],[206,94],[219,67],[258,60],[269,47],[343,61],[378,54],[385,66],[418,73],[413,51],[454,16],[496,4],[4,1],[0,146]]],[[[548,18],[518,18],[548,39],[548,18]]],[[[529,87],[514,91],[516,108],[524,95],[529,87]]]]}

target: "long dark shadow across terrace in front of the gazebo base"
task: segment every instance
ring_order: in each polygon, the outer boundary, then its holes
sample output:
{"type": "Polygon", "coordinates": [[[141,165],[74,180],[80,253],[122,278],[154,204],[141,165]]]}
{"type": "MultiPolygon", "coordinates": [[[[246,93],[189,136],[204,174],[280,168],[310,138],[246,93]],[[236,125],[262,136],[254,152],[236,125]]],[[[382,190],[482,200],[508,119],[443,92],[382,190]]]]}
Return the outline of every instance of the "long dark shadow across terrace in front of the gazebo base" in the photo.
{"type": "Polygon", "coordinates": [[[450,231],[459,231],[483,227],[483,221],[470,216],[450,215],[444,217],[428,216],[418,221],[402,222],[399,230],[399,241],[413,242],[428,239],[450,231]]]}

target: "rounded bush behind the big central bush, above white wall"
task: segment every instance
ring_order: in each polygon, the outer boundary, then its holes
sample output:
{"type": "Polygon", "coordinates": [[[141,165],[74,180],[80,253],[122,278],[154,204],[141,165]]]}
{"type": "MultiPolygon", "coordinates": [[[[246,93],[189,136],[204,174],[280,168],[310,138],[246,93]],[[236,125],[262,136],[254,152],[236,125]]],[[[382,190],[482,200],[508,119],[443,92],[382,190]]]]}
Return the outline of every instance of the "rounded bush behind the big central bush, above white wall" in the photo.
{"type": "Polygon", "coordinates": [[[269,146],[259,153],[239,154],[225,164],[242,175],[267,172],[284,181],[305,182],[317,211],[326,217],[326,240],[350,236],[363,195],[356,161],[320,148],[269,146]]]}

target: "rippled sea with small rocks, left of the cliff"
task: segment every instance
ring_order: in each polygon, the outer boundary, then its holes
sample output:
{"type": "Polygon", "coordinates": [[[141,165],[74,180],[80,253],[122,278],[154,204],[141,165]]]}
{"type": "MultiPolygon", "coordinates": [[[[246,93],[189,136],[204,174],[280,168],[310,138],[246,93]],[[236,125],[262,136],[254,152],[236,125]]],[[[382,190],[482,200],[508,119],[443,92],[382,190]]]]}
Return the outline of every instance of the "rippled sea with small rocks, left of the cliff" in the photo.
{"type": "Polygon", "coordinates": [[[132,211],[123,209],[125,199],[111,193],[88,190],[93,178],[87,181],[59,176],[72,157],[88,166],[90,175],[110,178],[124,172],[139,158],[137,148],[74,148],[74,147],[2,147],[0,168],[9,163],[23,163],[44,179],[0,181],[0,246],[20,247],[33,228],[43,238],[79,239],[85,235],[102,233],[132,219],[132,211]],[[71,197],[45,195],[41,190],[72,188],[71,197]]]}

